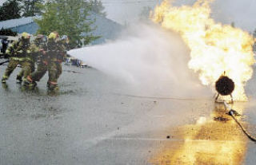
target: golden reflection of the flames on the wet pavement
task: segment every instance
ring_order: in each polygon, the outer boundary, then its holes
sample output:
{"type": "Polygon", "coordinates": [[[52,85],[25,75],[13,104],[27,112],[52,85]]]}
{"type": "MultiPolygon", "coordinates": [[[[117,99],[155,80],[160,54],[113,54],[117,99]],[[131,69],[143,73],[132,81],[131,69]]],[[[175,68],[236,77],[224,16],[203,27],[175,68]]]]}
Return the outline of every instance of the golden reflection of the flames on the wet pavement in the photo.
{"type": "MultiPolygon", "coordinates": [[[[242,113],[244,104],[233,108],[242,113]]],[[[241,120],[241,119],[238,119],[241,120]]],[[[150,162],[153,164],[242,164],[248,139],[226,115],[223,104],[216,104],[210,118],[201,117],[196,124],[177,128],[175,137],[182,139],[166,146],[150,162]]]]}

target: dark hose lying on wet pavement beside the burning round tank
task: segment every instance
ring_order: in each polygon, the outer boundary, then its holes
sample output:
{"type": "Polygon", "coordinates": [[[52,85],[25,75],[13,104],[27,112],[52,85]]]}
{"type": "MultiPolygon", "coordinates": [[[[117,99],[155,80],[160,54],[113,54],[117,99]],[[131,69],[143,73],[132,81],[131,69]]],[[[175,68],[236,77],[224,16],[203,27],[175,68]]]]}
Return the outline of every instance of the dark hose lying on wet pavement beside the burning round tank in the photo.
{"type": "Polygon", "coordinates": [[[246,128],[244,128],[242,126],[242,124],[238,121],[238,119],[236,118],[236,116],[241,116],[238,112],[236,112],[234,109],[230,108],[230,106],[228,104],[226,104],[226,102],[224,101],[224,105],[225,105],[225,108],[227,110],[229,110],[228,114],[234,119],[234,121],[238,124],[238,126],[242,129],[242,132],[244,132],[246,134],[246,136],[256,142],[256,138],[254,136],[251,136],[249,132],[246,131],[246,128]]]}

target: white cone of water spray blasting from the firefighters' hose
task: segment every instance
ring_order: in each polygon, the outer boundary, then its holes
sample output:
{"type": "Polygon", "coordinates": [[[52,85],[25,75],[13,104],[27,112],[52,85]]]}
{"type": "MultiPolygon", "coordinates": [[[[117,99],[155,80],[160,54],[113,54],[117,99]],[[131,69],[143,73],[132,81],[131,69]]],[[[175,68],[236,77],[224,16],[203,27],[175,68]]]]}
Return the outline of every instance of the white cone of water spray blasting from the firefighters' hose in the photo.
{"type": "Polygon", "coordinates": [[[133,26],[117,41],[70,50],[69,54],[126,81],[137,94],[181,97],[206,93],[187,67],[190,50],[181,37],[159,26],[133,26]]]}

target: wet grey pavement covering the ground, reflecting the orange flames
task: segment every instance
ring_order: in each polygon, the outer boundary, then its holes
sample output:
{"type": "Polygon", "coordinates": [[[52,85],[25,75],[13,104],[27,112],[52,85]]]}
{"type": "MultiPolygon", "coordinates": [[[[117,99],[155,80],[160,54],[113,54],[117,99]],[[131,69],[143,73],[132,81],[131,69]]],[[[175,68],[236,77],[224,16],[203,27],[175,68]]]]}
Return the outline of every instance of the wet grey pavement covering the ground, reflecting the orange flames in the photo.
{"type": "MultiPolygon", "coordinates": [[[[0,66],[2,73],[6,66],[0,66]]],[[[256,144],[211,98],[127,96],[132,89],[96,69],[64,66],[56,95],[47,76],[30,90],[0,88],[0,164],[255,164],[256,144]]],[[[233,108],[256,135],[254,78],[233,108]]]]}

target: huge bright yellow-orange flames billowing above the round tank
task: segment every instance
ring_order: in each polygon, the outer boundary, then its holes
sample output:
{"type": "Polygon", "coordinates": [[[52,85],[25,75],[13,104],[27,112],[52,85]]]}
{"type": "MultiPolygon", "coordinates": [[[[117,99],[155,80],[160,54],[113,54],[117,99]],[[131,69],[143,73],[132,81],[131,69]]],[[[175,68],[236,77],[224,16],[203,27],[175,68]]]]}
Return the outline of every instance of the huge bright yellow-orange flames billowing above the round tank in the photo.
{"type": "Polygon", "coordinates": [[[214,86],[226,72],[235,84],[234,100],[247,100],[244,86],[253,74],[254,38],[242,29],[214,22],[210,2],[177,7],[165,0],[155,8],[152,20],[180,33],[190,48],[189,68],[199,73],[202,84],[214,86]]]}

